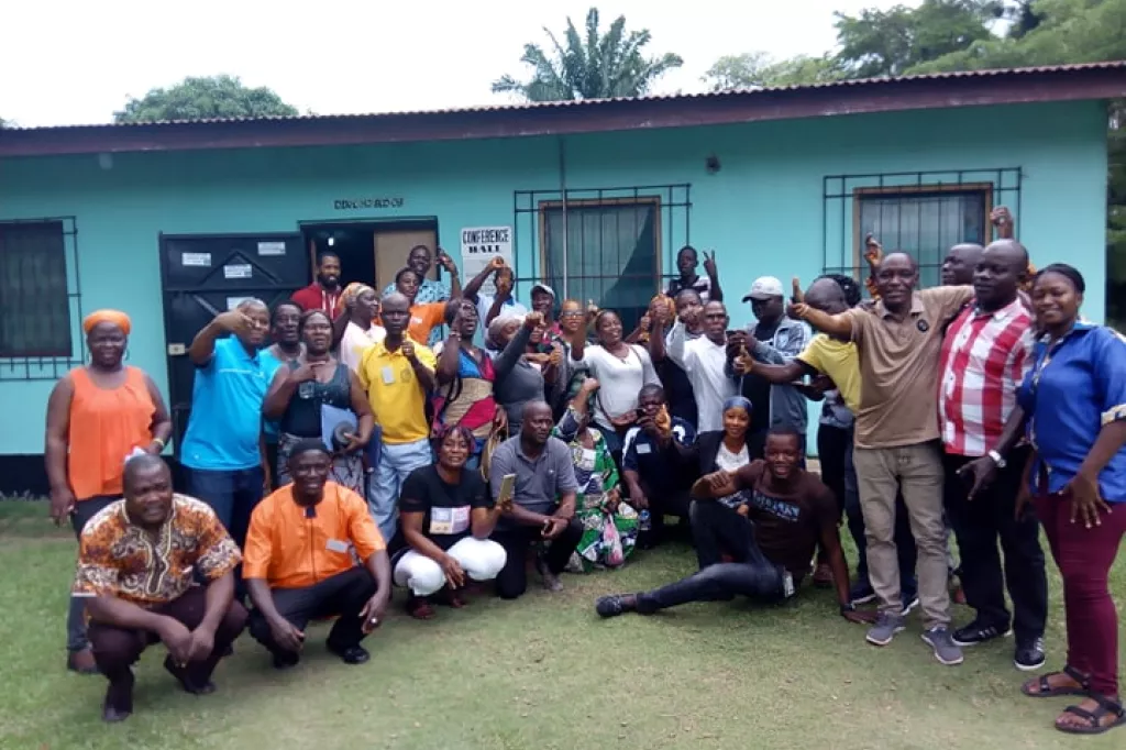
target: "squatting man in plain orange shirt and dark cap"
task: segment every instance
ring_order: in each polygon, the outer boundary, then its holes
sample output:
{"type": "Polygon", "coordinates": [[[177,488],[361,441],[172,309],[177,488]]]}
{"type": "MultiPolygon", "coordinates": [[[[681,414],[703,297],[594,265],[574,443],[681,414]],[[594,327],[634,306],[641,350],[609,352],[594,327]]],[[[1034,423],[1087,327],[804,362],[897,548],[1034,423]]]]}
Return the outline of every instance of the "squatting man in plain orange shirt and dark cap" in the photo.
{"type": "Polygon", "coordinates": [[[331,456],[316,438],[289,454],[293,484],[254,508],[242,575],[254,604],[250,634],[286,669],[301,659],[311,619],[337,617],[329,651],[363,664],[364,636],[383,620],[391,563],[378,527],[358,494],[329,482],[331,456]],[[361,565],[356,564],[356,560],[361,565]]]}

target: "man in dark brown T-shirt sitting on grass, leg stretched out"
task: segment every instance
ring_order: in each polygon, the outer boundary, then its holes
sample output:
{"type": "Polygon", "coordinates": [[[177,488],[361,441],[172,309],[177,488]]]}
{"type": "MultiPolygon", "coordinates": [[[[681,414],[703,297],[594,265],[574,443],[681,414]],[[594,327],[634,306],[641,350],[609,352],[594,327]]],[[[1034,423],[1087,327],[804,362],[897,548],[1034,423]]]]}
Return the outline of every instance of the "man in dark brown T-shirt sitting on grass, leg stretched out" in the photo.
{"type": "Polygon", "coordinates": [[[841,616],[850,623],[873,622],[875,613],[858,611],[849,599],[837,501],[801,468],[801,459],[798,434],[775,429],[767,436],[766,461],[697,481],[689,515],[699,572],[653,591],[602,597],[598,614],[650,615],[689,601],[725,601],[736,593],[780,601],[794,596],[820,542],[829,553],[841,616]],[[738,506],[717,500],[732,497],[738,506]],[[722,562],[723,555],[734,562],[722,562]]]}

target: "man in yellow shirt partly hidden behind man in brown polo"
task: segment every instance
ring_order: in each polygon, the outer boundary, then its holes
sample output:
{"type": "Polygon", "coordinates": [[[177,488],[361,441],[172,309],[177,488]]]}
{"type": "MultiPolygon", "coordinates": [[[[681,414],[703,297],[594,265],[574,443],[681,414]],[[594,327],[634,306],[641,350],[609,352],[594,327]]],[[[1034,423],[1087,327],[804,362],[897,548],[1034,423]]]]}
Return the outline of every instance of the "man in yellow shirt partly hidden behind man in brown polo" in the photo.
{"type": "MultiPolygon", "coordinates": [[[[795,291],[796,294],[797,291],[795,291]]],[[[805,292],[805,304],[830,315],[848,310],[844,291],[834,279],[822,277],[813,282],[805,292]]],[[[771,383],[794,383],[806,375],[826,375],[840,392],[841,400],[852,414],[860,410],[860,359],[856,343],[846,337],[817,333],[805,350],[786,365],[762,365],[750,358],[740,358],[736,369],[752,368],[771,383]]],[[[848,518],[848,530],[856,543],[859,560],[856,566],[856,578],[849,596],[852,604],[867,604],[876,598],[868,579],[867,532],[864,525],[864,514],[860,511],[860,493],[856,479],[856,467],[852,464],[852,428],[848,430],[847,449],[844,453],[844,497],[843,502],[848,518]]],[[[899,554],[900,580],[903,589],[903,613],[910,613],[919,604],[918,582],[914,574],[915,545],[911,535],[910,520],[903,508],[902,498],[897,500],[900,512],[895,515],[895,546],[899,554]]]]}

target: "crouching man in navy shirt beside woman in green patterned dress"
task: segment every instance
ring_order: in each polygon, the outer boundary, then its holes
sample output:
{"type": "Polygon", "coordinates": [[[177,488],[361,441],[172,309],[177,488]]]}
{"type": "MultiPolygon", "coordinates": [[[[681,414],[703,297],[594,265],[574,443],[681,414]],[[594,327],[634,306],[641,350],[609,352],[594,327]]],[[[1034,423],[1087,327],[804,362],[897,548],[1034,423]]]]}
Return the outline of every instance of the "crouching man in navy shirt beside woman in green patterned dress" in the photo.
{"type": "Polygon", "coordinates": [[[654,546],[664,536],[667,515],[688,523],[692,480],[679,470],[680,454],[672,441],[694,444],[696,428],[669,416],[669,402],[660,385],[646,385],[637,393],[637,423],[626,432],[622,450],[622,474],[629,503],[638,512],[650,514],[652,530],[643,535],[642,544],[654,546]]]}

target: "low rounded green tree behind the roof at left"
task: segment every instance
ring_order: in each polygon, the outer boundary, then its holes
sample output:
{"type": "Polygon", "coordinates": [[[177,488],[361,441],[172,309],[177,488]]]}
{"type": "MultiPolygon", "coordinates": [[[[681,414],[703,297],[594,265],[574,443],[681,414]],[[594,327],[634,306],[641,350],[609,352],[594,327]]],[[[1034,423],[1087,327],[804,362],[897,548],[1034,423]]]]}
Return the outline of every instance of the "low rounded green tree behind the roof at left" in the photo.
{"type": "Polygon", "coordinates": [[[280,117],[297,108],[263,87],[248,88],[231,75],[186,78],[169,88],[152,89],[144,97],[129,97],[114,113],[115,123],[157,123],[214,117],[280,117]]]}

